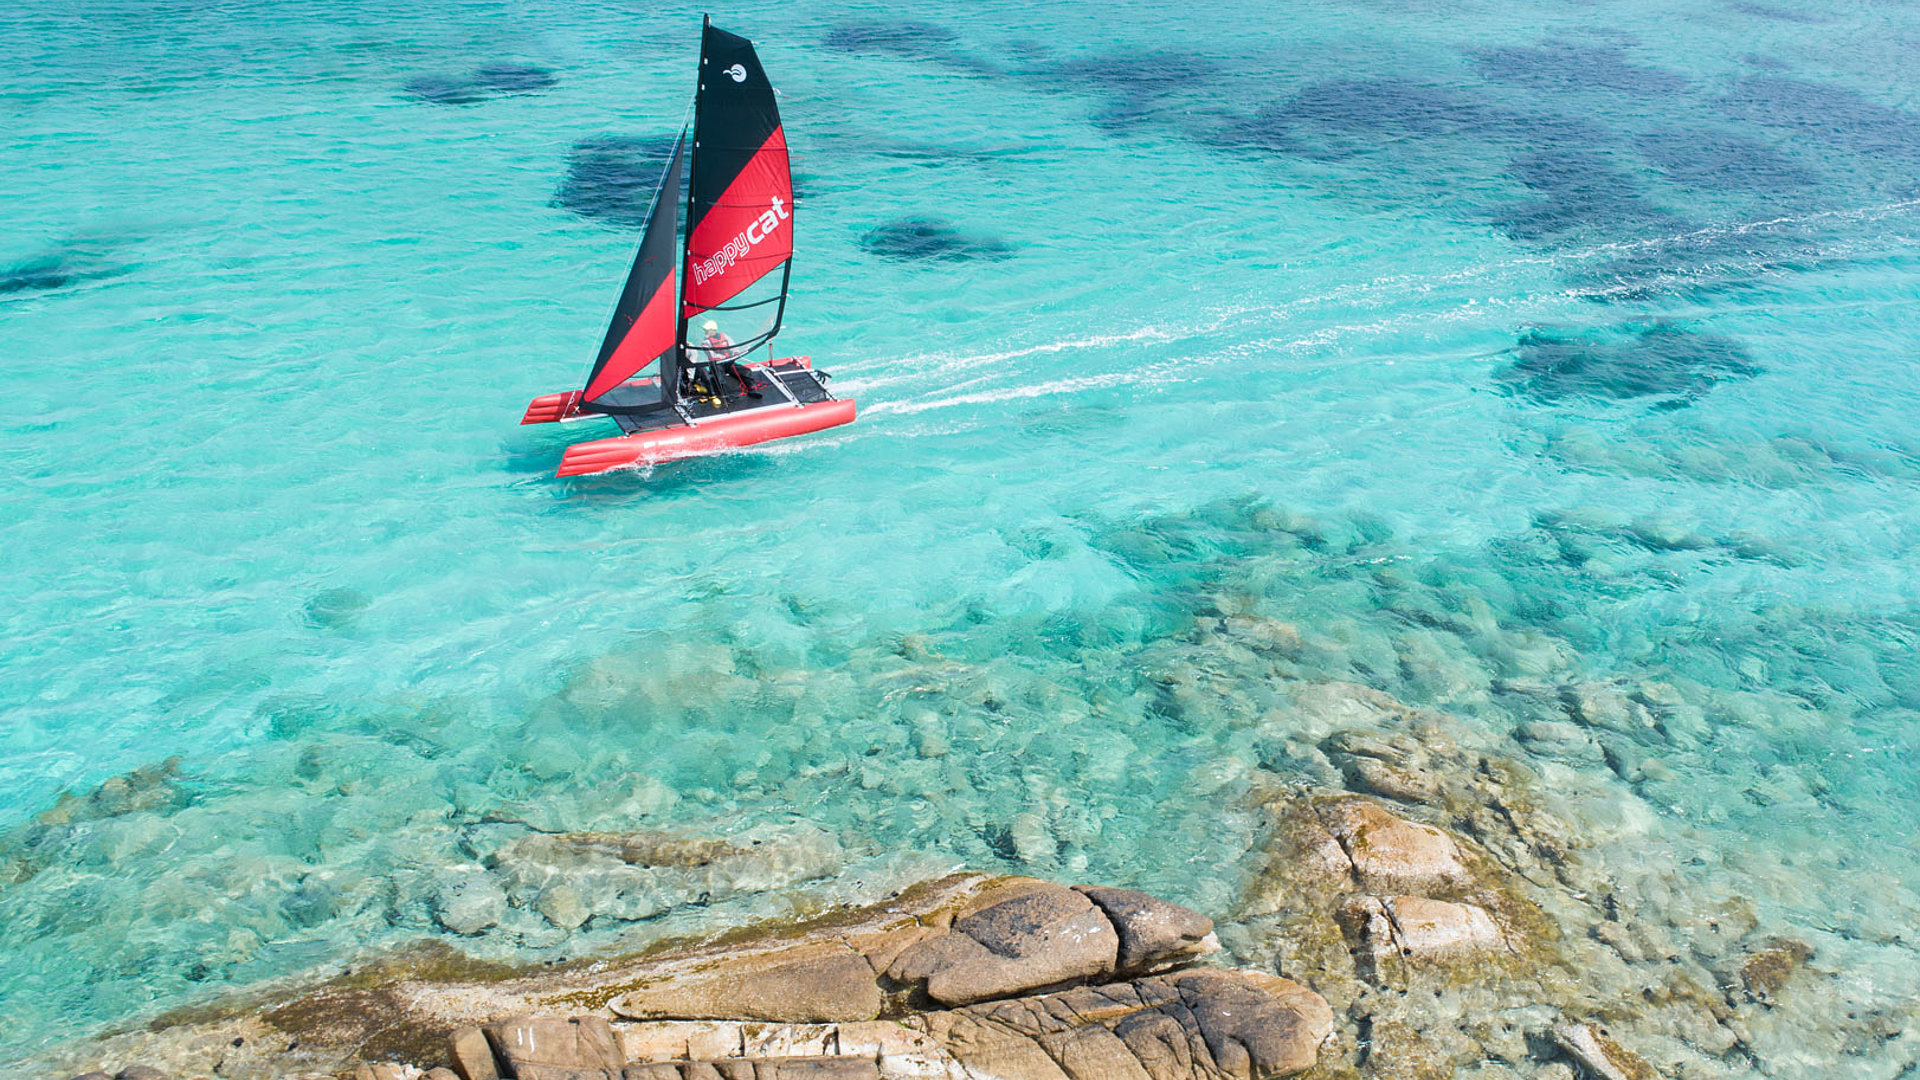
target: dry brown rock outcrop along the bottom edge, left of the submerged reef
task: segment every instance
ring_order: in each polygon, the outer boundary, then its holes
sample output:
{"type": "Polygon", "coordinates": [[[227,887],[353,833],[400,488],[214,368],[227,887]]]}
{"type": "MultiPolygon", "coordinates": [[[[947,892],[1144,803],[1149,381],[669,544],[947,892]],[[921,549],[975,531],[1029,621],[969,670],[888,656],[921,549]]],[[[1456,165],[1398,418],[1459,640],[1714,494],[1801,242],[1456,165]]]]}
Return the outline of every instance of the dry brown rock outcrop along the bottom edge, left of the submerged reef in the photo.
{"type": "Polygon", "coordinates": [[[92,1051],[190,1076],[363,1080],[1263,1080],[1311,1068],[1334,1030],[1327,1001],[1271,972],[1194,967],[1219,949],[1212,930],[1133,890],[952,874],[803,924],[566,970],[336,980],[92,1051]],[[369,1057],[382,1061],[355,1063],[369,1057]]]}

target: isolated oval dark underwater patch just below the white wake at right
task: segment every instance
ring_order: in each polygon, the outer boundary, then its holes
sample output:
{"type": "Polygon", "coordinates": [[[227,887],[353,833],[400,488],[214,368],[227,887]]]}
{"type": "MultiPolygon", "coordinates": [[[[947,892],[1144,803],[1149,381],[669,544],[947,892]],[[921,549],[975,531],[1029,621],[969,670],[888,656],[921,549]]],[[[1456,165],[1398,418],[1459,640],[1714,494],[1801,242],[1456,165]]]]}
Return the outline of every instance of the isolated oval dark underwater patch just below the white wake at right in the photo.
{"type": "Polygon", "coordinates": [[[1684,407],[1730,379],[1761,373],[1747,348],[1724,334],[1672,325],[1609,331],[1526,331],[1500,380],[1536,402],[1663,398],[1684,407]]]}

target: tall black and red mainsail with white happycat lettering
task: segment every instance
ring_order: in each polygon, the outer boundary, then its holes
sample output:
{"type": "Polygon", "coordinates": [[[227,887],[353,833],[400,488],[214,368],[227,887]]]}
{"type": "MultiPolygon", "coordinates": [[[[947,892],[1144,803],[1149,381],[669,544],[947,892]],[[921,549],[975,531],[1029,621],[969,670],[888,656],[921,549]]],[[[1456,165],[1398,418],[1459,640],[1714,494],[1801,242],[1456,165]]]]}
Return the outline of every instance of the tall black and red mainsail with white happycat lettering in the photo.
{"type": "Polygon", "coordinates": [[[712,352],[703,332],[708,319],[720,323],[735,354],[778,334],[791,259],[793,173],[774,88],[753,42],[707,23],[680,311],[687,359],[712,352]],[[768,286],[753,288],[760,281],[768,286]]]}

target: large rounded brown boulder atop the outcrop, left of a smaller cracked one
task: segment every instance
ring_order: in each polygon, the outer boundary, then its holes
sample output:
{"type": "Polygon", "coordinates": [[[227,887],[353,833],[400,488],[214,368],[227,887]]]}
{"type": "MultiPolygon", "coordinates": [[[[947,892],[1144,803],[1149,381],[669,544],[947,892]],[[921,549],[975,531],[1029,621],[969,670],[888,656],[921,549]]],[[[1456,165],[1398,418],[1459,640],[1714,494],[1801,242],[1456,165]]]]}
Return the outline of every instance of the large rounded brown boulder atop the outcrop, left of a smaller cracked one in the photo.
{"type": "Polygon", "coordinates": [[[950,934],[914,944],[887,974],[900,982],[924,978],[927,995],[943,1005],[1110,974],[1119,934],[1106,915],[1069,888],[1033,886],[954,919],[950,934]]]}

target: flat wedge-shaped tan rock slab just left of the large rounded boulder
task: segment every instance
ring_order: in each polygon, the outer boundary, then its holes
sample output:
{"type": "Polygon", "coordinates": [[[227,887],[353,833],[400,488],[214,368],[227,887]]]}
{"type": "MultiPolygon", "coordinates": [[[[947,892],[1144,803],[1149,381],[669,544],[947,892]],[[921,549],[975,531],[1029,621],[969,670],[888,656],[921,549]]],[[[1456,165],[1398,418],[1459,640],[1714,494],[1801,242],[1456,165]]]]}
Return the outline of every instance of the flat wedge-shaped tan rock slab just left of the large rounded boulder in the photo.
{"type": "Polygon", "coordinates": [[[720,955],[630,990],[609,1007],[634,1020],[835,1022],[872,1020],[879,1005],[874,969],[860,953],[824,942],[720,955]]]}

